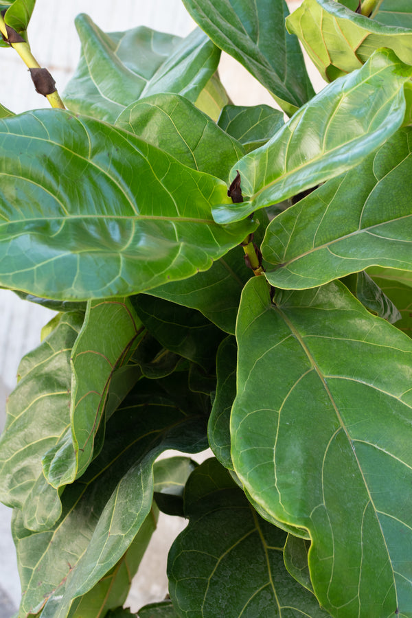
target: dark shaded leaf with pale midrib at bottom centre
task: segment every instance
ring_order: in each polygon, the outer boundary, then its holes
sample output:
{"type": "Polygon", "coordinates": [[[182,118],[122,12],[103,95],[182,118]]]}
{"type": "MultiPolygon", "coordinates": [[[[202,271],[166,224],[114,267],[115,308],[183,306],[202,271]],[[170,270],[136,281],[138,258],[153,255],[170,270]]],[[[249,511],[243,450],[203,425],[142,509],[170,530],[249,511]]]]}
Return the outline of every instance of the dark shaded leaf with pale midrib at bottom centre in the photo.
{"type": "Polygon", "coordinates": [[[284,531],[258,516],[216,459],[192,472],[185,511],[189,525],[168,558],[170,596],[179,616],[328,615],[286,571],[284,531]]]}

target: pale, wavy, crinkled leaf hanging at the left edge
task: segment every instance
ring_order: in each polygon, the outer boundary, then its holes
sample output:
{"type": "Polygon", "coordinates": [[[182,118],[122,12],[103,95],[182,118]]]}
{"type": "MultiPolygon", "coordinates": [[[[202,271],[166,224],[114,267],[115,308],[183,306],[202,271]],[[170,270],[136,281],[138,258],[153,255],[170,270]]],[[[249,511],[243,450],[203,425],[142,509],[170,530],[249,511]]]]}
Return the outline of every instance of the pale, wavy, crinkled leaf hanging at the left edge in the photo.
{"type": "Polygon", "coordinates": [[[19,508],[26,528],[50,527],[61,503],[43,476],[42,457],[69,428],[70,353],[83,314],[60,316],[47,339],[23,358],[19,384],[8,400],[0,440],[0,497],[19,508]]]}

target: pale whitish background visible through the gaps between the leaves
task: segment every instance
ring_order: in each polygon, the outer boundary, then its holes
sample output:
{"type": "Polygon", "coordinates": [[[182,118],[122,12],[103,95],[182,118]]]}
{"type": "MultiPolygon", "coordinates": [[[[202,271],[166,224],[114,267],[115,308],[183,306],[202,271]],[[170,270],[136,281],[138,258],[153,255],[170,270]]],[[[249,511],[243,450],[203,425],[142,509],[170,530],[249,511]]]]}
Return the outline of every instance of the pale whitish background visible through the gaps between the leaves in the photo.
{"type": "MultiPolygon", "coordinates": [[[[299,0],[289,1],[290,12],[300,3],[299,0]]],[[[89,14],[106,32],[146,25],[186,36],[195,26],[181,0],[122,0],[117,3],[113,0],[71,0],[69,3],[37,0],[28,29],[29,41],[34,57],[52,73],[60,93],[80,57],[80,43],[73,23],[80,12],[89,14]]],[[[319,91],[325,83],[312,66],[309,70],[314,88],[319,91]]],[[[271,95],[226,54],[222,54],[219,73],[234,103],[266,103],[276,107],[271,95]]],[[[34,91],[27,68],[13,49],[0,48],[0,78],[0,102],[15,113],[48,106],[47,100],[34,91]]],[[[5,400],[16,384],[19,361],[40,343],[41,328],[53,315],[50,310],[21,301],[9,290],[0,290],[0,432],[5,423],[5,400]]],[[[197,459],[201,461],[205,455],[197,459]]],[[[0,618],[9,618],[16,611],[21,591],[10,519],[11,510],[0,503],[0,618]]],[[[137,611],[148,602],[159,601],[167,593],[168,548],[184,526],[180,518],[161,514],[158,529],[126,602],[131,610],[137,611]]]]}

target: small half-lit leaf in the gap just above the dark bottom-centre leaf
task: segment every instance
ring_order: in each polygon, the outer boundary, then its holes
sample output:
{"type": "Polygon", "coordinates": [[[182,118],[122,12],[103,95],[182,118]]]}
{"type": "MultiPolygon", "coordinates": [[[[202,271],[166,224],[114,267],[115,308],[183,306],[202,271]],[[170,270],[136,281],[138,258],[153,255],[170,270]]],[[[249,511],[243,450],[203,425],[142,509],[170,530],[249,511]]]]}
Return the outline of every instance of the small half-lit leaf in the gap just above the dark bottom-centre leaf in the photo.
{"type": "Polygon", "coordinates": [[[183,491],[187,479],[197,465],[196,461],[189,457],[168,457],[155,462],[153,495],[161,512],[167,515],[185,516],[183,491]]]}

